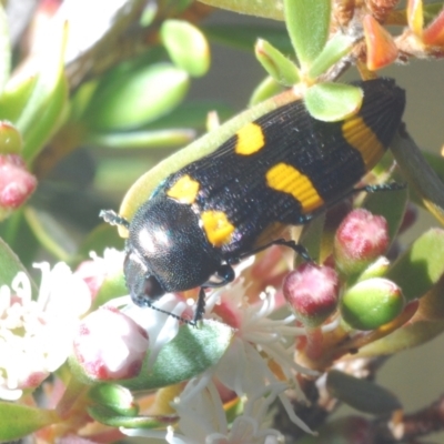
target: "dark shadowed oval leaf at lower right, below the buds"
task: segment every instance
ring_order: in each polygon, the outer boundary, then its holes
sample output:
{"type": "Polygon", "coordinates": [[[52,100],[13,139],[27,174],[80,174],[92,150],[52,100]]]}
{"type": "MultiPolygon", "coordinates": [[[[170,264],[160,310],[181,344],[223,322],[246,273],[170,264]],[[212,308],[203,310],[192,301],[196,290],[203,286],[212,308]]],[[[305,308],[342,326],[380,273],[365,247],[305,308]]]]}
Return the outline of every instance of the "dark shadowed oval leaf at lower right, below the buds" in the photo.
{"type": "Polygon", "coordinates": [[[332,396],[361,412],[382,415],[402,408],[396,396],[381,385],[336,370],[329,372],[326,387],[332,396]]]}

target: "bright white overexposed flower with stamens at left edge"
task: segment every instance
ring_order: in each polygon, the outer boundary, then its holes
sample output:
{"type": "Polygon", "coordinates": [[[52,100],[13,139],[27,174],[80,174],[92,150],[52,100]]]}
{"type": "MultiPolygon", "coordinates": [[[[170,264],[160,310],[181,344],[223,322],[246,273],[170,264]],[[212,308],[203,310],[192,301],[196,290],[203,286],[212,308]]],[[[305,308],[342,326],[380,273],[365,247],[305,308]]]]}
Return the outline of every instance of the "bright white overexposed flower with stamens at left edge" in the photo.
{"type": "Polygon", "coordinates": [[[38,297],[19,272],[10,286],[0,287],[0,398],[18,400],[23,389],[38,386],[63,364],[79,317],[90,306],[87,284],[62,262],[42,272],[38,297]]]}

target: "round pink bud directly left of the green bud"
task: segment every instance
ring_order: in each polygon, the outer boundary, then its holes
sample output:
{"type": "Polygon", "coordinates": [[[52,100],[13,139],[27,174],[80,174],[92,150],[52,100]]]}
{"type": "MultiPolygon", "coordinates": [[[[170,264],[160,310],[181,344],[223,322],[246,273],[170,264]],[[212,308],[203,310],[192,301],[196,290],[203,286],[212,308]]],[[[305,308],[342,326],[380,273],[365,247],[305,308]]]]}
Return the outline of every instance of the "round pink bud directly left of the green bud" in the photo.
{"type": "Polygon", "coordinates": [[[319,326],[337,306],[339,280],[329,266],[304,263],[284,280],[284,296],[299,320],[306,326],[319,326]]]}

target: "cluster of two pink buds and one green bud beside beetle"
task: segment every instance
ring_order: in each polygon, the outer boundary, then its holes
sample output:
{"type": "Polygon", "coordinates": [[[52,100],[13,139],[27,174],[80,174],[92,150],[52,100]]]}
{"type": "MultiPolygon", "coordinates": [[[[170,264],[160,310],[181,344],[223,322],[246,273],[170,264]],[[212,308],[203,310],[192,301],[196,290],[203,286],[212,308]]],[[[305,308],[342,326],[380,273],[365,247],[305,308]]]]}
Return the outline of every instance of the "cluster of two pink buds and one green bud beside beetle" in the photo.
{"type": "Polygon", "coordinates": [[[353,329],[373,330],[395,319],[404,309],[401,289],[383,278],[390,245],[383,216],[353,210],[334,236],[327,265],[305,263],[284,280],[284,296],[300,322],[322,325],[337,309],[353,329]]]}

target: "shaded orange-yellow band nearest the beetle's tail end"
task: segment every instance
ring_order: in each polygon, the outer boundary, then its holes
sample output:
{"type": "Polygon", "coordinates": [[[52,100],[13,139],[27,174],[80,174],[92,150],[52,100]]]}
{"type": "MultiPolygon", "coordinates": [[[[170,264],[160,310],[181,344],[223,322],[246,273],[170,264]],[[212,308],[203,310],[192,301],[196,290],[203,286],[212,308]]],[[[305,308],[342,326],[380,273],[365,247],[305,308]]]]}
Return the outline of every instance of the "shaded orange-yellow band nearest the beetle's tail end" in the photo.
{"type": "Polygon", "coordinates": [[[377,135],[359,115],[345,120],[342,124],[342,135],[361,153],[367,171],[380,161],[385,152],[377,135]]]}

